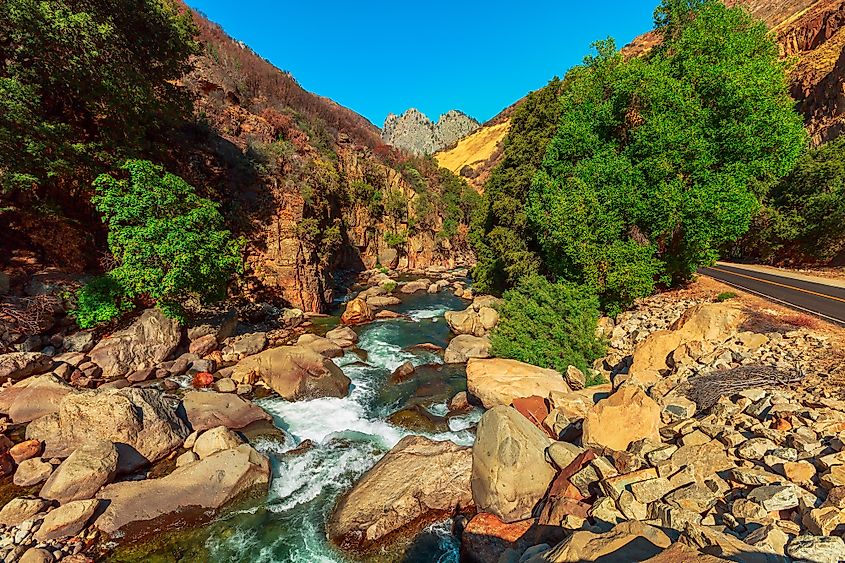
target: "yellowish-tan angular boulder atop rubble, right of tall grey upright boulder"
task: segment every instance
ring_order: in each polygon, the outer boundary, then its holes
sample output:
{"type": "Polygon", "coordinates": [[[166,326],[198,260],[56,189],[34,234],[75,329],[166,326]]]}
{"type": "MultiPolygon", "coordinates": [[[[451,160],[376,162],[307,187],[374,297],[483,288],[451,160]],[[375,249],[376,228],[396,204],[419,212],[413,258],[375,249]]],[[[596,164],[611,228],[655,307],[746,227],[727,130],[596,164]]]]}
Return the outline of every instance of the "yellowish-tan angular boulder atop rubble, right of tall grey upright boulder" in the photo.
{"type": "Polygon", "coordinates": [[[660,442],[660,425],[660,405],[639,387],[624,385],[587,412],[582,442],[625,451],[644,438],[660,442]]]}

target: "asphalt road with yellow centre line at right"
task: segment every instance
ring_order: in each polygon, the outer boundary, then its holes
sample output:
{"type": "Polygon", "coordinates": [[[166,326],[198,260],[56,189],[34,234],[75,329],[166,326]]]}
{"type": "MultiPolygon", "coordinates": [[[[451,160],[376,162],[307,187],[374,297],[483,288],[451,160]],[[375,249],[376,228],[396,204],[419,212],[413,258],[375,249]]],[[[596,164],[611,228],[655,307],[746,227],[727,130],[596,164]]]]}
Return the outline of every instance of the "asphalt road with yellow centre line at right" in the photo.
{"type": "Polygon", "coordinates": [[[845,326],[845,288],[717,264],[701,268],[709,276],[737,289],[845,326]]]}

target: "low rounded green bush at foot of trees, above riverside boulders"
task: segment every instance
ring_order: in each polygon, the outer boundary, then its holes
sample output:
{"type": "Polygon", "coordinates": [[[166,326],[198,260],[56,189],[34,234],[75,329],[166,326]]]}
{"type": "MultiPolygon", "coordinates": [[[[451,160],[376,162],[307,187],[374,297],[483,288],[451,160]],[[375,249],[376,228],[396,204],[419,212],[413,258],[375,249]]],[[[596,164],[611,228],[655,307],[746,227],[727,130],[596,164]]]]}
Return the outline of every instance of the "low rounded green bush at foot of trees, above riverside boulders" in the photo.
{"type": "Polygon", "coordinates": [[[570,365],[587,370],[605,351],[596,336],[598,298],[588,288],[552,283],[533,275],[506,291],[492,353],[561,373],[570,365]]]}

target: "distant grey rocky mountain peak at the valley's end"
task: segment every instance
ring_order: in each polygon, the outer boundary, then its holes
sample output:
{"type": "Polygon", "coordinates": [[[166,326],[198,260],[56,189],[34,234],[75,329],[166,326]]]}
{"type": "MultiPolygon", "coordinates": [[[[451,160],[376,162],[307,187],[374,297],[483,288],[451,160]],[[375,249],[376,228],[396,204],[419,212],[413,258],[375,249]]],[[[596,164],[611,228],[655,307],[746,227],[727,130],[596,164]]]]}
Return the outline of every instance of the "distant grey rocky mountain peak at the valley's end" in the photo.
{"type": "Polygon", "coordinates": [[[454,145],[481,124],[463,112],[451,110],[431,121],[422,112],[411,108],[402,115],[390,114],[384,121],[382,139],[388,145],[413,154],[433,154],[454,145]]]}

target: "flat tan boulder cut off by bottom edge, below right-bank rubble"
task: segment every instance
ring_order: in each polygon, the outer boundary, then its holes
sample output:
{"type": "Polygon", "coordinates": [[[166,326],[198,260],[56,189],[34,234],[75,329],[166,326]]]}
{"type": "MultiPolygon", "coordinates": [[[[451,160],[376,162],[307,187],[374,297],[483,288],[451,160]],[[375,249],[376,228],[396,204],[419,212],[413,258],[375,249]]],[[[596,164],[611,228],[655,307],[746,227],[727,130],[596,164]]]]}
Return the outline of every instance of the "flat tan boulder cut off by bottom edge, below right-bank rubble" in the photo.
{"type": "Polygon", "coordinates": [[[609,532],[573,532],[551,550],[527,563],[586,563],[587,561],[644,561],[671,545],[659,528],[641,522],[622,522],[609,532]]]}

